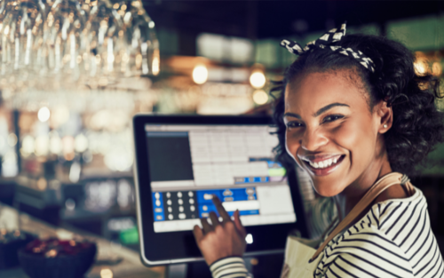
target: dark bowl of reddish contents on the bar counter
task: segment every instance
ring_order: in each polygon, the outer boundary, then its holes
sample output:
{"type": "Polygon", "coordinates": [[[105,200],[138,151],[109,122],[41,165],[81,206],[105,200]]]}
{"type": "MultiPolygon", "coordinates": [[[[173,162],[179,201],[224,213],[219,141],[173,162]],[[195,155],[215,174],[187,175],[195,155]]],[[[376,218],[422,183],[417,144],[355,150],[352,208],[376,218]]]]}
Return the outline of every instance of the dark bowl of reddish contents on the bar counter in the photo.
{"type": "Polygon", "coordinates": [[[97,246],[74,240],[35,240],[19,250],[19,261],[31,278],[79,278],[92,266],[97,246]]]}

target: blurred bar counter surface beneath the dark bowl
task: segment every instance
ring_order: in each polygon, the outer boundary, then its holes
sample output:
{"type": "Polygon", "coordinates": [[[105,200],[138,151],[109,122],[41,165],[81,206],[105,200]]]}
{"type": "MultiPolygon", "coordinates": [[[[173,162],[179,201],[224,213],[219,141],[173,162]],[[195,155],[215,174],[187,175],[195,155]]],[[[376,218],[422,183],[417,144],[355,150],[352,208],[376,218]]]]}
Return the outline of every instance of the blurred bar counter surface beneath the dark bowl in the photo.
{"type": "MultiPolygon", "coordinates": [[[[164,266],[146,267],[140,262],[139,253],[122,245],[109,242],[98,236],[87,234],[75,229],[65,229],[50,226],[43,221],[28,216],[12,207],[0,203],[0,229],[20,229],[31,234],[36,234],[40,239],[58,237],[60,239],[83,238],[96,242],[98,252],[96,261],[84,278],[163,278],[164,266]]],[[[17,266],[15,268],[0,270],[2,278],[29,278],[27,274],[17,266]]]]}

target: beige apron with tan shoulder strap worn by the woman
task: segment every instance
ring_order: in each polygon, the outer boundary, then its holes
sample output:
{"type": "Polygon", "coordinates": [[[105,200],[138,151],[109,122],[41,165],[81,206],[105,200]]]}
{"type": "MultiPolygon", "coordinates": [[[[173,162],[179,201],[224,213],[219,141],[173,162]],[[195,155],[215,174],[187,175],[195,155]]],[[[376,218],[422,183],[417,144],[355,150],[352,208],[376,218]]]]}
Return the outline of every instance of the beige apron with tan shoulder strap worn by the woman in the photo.
{"type": "Polygon", "coordinates": [[[411,196],[415,193],[415,188],[411,185],[407,176],[397,172],[385,175],[370,187],[367,194],[362,197],[361,201],[354,206],[353,210],[336,226],[333,232],[329,234],[329,237],[322,242],[318,250],[314,248],[318,246],[321,241],[311,241],[289,236],[285,248],[285,264],[282,269],[281,278],[313,278],[313,273],[322,258],[322,256],[319,255],[327,244],[329,244],[337,234],[345,230],[355,218],[361,215],[361,212],[368,208],[385,189],[398,184],[405,188],[408,195],[411,196]]]}

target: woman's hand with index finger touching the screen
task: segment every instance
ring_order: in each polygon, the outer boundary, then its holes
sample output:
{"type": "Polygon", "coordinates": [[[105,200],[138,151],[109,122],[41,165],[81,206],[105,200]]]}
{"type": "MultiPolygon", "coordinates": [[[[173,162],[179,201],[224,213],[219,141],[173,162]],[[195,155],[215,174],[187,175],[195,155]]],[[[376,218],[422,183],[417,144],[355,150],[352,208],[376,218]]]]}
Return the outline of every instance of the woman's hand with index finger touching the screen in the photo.
{"type": "Polygon", "coordinates": [[[208,223],[207,218],[202,218],[202,229],[196,225],[193,231],[197,246],[209,266],[220,258],[242,257],[247,245],[245,242],[247,233],[239,218],[239,210],[234,212],[234,221],[232,221],[215,195],[213,195],[213,203],[222,217],[222,222],[219,222],[216,213],[211,211],[212,225],[208,223]]]}

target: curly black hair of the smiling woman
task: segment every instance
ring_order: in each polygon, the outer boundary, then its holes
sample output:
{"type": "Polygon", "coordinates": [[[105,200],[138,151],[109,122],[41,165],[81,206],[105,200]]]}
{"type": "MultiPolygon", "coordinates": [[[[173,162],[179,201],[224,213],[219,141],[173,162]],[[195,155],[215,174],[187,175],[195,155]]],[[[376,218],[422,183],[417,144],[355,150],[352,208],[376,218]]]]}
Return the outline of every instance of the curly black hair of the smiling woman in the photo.
{"type": "Polygon", "coordinates": [[[385,132],[385,147],[393,171],[415,173],[415,167],[424,162],[432,148],[444,141],[444,117],[435,99],[442,98],[440,80],[430,74],[417,75],[415,56],[404,45],[382,36],[347,35],[335,43],[353,51],[361,51],[375,63],[375,72],[359,62],[329,49],[315,49],[295,60],[285,71],[284,79],[275,83],[270,91],[276,91],[274,121],[277,124],[279,145],[276,158],[286,168],[294,167],[294,161],[286,152],[283,123],[284,91],[286,84],[308,72],[326,72],[337,69],[353,69],[361,77],[369,92],[369,109],[380,100],[392,107],[392,128],[385,132]]]}

